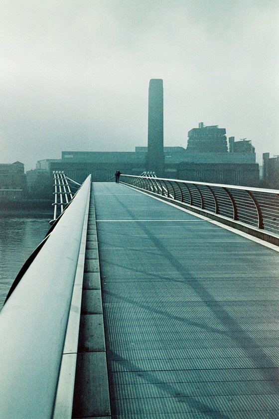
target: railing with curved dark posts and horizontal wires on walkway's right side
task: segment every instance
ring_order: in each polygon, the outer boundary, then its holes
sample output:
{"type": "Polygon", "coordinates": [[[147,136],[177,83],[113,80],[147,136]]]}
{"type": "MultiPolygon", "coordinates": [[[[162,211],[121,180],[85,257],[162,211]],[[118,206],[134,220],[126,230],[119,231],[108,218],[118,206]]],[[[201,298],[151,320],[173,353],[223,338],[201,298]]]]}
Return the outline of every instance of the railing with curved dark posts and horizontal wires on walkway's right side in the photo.
{"type": "Polygon", "coordinates": [[[186,206],[279,234],[279,191],[121,175],[120,181],[186,206]]]}

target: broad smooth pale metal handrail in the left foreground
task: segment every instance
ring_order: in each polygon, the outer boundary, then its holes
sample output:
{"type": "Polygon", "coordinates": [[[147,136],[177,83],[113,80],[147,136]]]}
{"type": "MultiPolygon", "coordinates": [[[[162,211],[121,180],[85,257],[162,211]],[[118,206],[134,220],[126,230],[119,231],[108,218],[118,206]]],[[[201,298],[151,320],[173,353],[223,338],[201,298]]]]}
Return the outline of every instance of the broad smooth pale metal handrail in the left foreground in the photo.
{"type": "Polygon", "coordinates": [[[89,176],[0,312],[0,419],[52,418],[90,185],[89,176]]]}

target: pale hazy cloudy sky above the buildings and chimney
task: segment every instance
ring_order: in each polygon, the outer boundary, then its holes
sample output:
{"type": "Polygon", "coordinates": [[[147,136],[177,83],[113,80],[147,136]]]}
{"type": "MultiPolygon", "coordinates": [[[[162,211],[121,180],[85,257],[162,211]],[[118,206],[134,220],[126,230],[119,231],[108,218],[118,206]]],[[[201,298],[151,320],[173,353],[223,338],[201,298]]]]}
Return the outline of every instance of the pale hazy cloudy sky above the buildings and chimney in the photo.
{"type": "Polygon", "coordinates": [[[2,0],[0,163],[147,145],[150,78],[164,144],[203,121],[279,154],[278,0],[2,0]]]}

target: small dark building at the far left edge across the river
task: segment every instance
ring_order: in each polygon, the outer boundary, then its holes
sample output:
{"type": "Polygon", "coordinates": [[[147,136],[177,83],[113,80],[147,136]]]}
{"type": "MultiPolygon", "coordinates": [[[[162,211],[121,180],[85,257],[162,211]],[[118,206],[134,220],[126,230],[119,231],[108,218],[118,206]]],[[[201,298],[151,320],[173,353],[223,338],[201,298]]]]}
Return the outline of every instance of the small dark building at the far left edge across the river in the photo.
{"type": "Polygon", "coordinates": [[[26,194],[24,164],[0,164],[0,201],[20,200],[26,194]]]}

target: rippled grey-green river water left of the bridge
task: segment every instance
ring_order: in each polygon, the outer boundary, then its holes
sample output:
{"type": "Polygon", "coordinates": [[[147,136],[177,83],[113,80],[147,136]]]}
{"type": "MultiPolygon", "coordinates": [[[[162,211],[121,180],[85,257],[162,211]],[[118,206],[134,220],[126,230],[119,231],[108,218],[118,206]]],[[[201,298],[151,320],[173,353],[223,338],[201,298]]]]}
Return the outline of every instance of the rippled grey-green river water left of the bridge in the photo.
{"type": "Polygon", "coordinates": [[[49,219],[0,217],[0,309],[21,266],[47,233],[49,219]]]}

